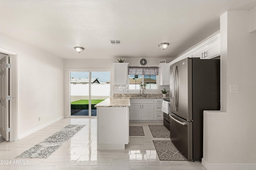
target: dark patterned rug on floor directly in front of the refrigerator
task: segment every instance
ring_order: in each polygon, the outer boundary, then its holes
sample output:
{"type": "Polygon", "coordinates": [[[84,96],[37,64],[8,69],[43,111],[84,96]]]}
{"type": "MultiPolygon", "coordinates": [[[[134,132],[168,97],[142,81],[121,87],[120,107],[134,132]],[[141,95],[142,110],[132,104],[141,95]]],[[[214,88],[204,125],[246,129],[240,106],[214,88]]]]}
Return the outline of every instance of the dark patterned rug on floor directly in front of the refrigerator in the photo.
{"type": "Polygon", "coordinates": [[[160,160],[187,160],[172,141],[153,141],[160,160]]]}

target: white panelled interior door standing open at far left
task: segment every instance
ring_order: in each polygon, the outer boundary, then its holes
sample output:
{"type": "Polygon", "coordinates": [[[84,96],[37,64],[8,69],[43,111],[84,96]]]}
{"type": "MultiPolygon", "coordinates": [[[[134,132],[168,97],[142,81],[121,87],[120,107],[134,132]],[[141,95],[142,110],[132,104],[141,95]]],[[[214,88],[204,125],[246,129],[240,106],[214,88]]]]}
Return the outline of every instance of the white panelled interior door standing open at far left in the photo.
{"type": "Polygon", "coordinates": [[[6,64],[9,57],[5,56],[0,60],[0,135],[9,141],[9,69],[6,64]]]}

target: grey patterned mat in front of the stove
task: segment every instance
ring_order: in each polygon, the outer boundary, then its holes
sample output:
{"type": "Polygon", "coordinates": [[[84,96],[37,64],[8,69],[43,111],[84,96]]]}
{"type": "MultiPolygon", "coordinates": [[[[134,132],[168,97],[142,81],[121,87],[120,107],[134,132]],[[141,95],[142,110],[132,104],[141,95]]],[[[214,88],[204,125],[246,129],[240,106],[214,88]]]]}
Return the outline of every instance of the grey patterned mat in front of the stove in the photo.
{"type": "Polygon", "coordinates": [[[168,137],[170,138],[170,131],[164,125],[148,125],[153,137],[168,137]]]}

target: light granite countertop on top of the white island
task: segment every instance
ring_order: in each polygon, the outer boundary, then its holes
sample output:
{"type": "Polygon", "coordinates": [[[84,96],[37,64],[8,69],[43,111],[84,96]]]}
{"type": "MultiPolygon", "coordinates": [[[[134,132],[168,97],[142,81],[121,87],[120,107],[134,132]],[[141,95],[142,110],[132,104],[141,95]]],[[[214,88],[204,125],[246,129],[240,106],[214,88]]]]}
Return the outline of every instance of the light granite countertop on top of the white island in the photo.
{"type": "Polygon", "coordinates": [[[111,96],[94,107],[130,107],[130,97],[111,96]]]}

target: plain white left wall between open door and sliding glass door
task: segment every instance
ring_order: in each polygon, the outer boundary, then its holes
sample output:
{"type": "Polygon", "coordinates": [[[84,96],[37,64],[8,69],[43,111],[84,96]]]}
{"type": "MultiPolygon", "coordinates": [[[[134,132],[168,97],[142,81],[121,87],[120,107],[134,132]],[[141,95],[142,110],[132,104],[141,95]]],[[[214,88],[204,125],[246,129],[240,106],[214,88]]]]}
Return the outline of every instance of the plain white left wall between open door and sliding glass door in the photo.
{"type": "Polygon", "coordinates": [[[64,116],[64,60],[0,33],[0,48],[15,51],[18,72],[18,136],[64,116]],[[40,117],[40,121],[39,121],[40,117]]]}

